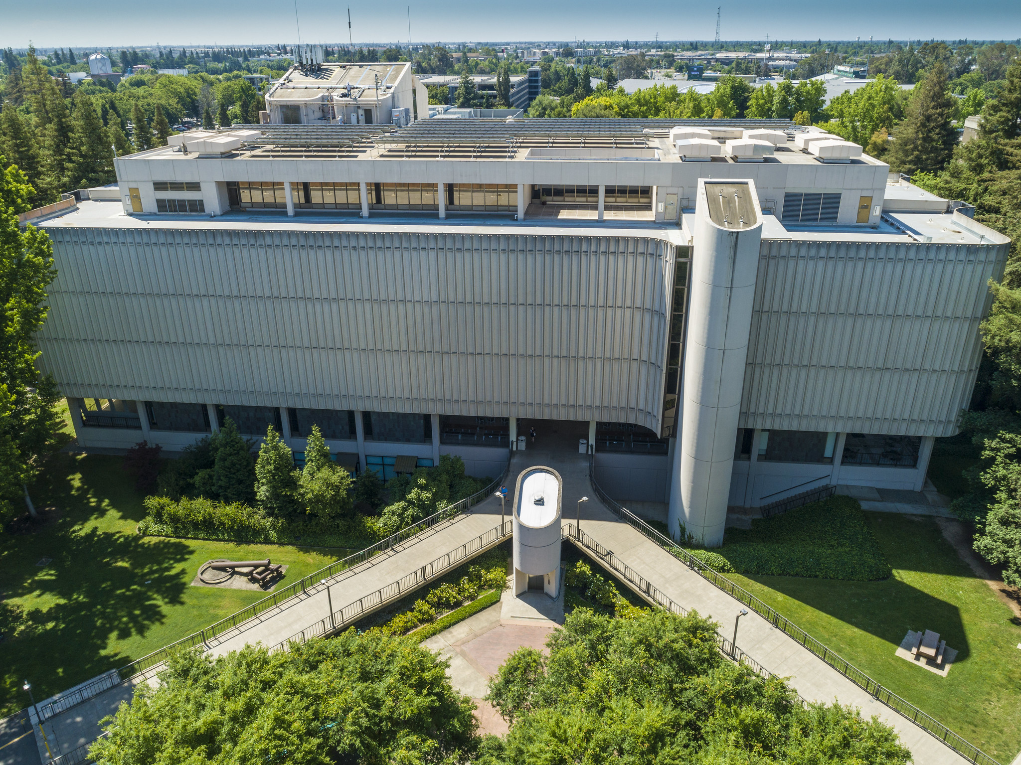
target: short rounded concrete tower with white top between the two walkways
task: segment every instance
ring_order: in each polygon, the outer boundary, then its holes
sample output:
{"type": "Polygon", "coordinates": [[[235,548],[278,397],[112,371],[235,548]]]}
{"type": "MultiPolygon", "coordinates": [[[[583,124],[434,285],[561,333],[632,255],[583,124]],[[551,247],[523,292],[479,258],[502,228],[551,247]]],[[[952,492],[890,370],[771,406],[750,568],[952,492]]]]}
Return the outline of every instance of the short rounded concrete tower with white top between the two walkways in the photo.
{"type": "Polygon", "coordinates": [[[556,597],[561,573],[561,474],[537,465],[518,476],[514,502],[514,594],[556,597]]]}

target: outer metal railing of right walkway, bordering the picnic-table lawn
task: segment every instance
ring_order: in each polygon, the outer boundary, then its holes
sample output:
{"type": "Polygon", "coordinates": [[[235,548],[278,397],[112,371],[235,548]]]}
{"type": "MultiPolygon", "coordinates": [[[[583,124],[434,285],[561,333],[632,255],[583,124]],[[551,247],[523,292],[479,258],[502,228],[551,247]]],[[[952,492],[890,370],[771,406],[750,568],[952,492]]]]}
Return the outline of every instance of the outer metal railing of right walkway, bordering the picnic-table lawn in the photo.
{"type": "Polygon", "coordinates": [[[645,537],[667,550],[667,552],[671,553],[676,558],[679,558],[681,562],[687,565],[692,571],[708,579],[720,590],[727,593],[727,595],[731,598],[743,603],[745,606],[770,622],[770,624],[774,627],[783,630],[783,632],[785,632],[789,638],[792,638],[800,643],[801,646],[836,669],[840,674],[854,682],[856,685],[864,688],[877,701],[882,702],[894,712],[907,717],[919,727],[927,730],[947,747],[955,750],[962,757],[965,757],[970,762],[979,763],[980,765],[1001,765],[1000,762],[982,752],[982,750],[974,744],[971,744],[963,736],[955,733],[949,727],[943,725],[943,723],[936,720],[927,712],[923,712],[911,702],[901,698],[889,688],[885,688],[880,685],[876,680],[872,679],[869,675],[848,662],[846,659],[842,658],[839,654],[834,653],[830,648],[817,641],[811,634],[790,621],[787,617],[783,616],[776,609],[766,603],[763,603],[763,601],[753,596],[747,590],[739,584],[735,584],[726,576],[720,574],[720,572],[715,570],[712,566],[709,566],[695,558],[672,539],[655,530],[627,508],[612,500],[596,482],[595,474],[592,469],[593,467],[594,459],[590,456],[588,475],[589,481],[592,484],[592,490],[596,493],[599,499],[602,500],[603,504],[610,508],[611,512],[613,512],[618,518],[638,531],[641,531],[645,534],[645,537]]]}

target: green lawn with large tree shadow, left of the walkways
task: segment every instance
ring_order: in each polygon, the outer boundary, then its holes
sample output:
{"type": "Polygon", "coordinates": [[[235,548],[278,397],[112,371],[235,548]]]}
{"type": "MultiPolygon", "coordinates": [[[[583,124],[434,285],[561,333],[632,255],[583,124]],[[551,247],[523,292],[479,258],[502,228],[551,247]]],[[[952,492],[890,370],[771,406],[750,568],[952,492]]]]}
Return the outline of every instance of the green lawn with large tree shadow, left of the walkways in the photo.
{"type": "Polygon", "coordinates": [[[120,463],[54,456],[32,496],[58,520],[33,534],[0,532],[0,716],[27,704],[25,678],[44,699],[264,597],[190,586],[206,560],[269,557],[293,581],[346,552],[140,537],[142,496],[120,463]],[[38,567],[43,558],[52,562],[38,567]]]}

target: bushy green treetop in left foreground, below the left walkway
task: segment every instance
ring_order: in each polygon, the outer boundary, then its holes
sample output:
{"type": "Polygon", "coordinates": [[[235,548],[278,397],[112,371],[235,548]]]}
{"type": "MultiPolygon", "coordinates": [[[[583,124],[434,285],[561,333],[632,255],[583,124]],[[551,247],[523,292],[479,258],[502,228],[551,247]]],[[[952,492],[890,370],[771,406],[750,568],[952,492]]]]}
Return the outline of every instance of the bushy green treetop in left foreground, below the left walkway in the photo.
{"type": "Polygon", "coordinates": [[[461,763],[478,741],[472,710],[414,639],[349,629],[272,654],[175,654],[90,755],[98,765],[461,763]]]}

